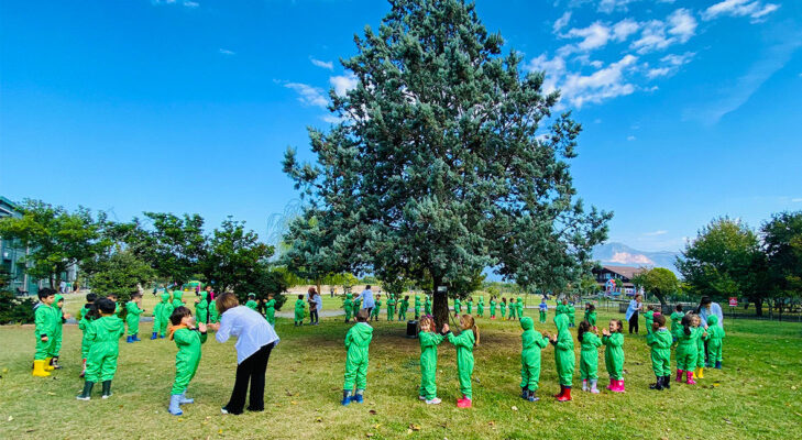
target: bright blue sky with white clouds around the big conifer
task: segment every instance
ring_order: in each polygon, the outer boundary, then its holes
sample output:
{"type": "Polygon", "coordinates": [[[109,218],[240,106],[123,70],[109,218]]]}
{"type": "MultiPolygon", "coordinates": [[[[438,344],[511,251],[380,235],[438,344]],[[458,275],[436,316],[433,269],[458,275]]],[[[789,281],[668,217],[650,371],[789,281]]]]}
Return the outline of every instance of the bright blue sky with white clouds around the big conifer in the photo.
{"type": "MultiPolygon", "coordinates": [[[[263,233],[281,172],[380,0],[0,0],[0,195],[226,216],[263,233]]],[[[611,240],[678,250],[712,218],[802,209],[802,2],[477,1],[584,127],[611,240]]]]}

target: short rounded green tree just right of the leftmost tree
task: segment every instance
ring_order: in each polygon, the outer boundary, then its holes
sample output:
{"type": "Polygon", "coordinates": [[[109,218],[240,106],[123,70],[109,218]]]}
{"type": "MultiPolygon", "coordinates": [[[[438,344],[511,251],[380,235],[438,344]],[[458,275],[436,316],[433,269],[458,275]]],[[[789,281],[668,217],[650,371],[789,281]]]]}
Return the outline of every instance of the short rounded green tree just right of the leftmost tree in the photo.
{"type": "Polygon", "coordinates": [[[89,284],[99,295],[117,294],[120,301],[128,301],[131,293],[153,280],[155,272],[129,250],[120,250],[100,256],[94,263],[89,284]]]}

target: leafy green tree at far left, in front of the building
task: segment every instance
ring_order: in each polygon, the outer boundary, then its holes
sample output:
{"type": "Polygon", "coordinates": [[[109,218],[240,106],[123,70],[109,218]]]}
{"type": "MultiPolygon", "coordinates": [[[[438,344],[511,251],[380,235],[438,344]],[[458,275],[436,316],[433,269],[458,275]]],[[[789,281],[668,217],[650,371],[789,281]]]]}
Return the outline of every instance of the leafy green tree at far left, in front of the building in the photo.
{"type": "Polygon", "coordinates": [[[51,288],[57,288],[67,268],[95,257],[111,244],[84,207],[68,212],[59,206],[26,199],[20,210],[20,218],[0,219],[0,235],[29,246],[20,264],[33,278],[47,279],[51,288]]]}

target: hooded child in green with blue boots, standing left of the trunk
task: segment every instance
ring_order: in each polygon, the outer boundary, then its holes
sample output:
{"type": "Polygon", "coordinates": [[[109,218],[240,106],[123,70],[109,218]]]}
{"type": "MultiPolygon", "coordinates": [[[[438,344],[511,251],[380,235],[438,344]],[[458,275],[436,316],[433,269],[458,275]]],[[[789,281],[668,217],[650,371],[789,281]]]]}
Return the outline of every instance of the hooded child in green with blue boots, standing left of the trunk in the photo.
{"type": "Polygon", "coordinates": [[[356,323],[345,334],[345,381],[342,386],[341,404],[364,402],[367,385],[367,350],[373,340],[373,327],[367,323],[367,309],[356,314],[356,323]],[[354,392],[354,386],[356,391],[354,392]]]}

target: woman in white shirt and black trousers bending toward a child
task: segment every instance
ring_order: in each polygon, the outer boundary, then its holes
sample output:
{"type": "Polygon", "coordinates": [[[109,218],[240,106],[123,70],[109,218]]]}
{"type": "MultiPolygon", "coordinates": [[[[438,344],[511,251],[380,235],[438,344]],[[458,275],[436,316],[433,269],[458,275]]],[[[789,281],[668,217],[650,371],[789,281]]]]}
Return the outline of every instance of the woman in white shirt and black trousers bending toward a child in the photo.
{"type": "Polygon", "coordinates": [[[237,378],[231,398],[222,407],[223,414],[242,414],[245,406],[248,383],[251,383],[249,411],[264,410],[264,375],[271,351],[278,343],[278,334],[273,326],[257,311],[240,306],[234,294],[227,292],[216,299],[220,312],[220,323],[209,324],[217,331],[218,342],[237,337],[237,378]]]}

